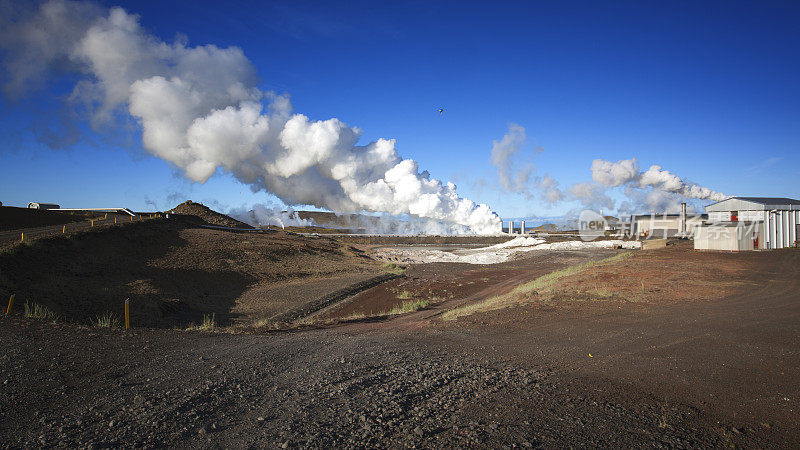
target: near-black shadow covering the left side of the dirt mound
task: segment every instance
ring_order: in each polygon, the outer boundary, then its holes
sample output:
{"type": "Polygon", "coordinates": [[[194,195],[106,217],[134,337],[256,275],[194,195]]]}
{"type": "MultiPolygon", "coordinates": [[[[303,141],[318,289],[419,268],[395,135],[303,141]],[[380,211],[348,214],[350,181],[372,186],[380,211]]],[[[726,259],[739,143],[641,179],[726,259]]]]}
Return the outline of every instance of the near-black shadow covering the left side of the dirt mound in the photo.
{"type": "Polygon", "coordinates": [[[21,244],[0,254],[0,294],[16,294],[15,311],[37,303],[63,320],[118,321],[130,298],[136,326],[185,326],[214,314],[220,325],[233,319],[236,299],[255,277],[231,270],[224,261],[204,269],[163,267],[159,261],[180,251],[181,222],[143,222],[21,244]]]}

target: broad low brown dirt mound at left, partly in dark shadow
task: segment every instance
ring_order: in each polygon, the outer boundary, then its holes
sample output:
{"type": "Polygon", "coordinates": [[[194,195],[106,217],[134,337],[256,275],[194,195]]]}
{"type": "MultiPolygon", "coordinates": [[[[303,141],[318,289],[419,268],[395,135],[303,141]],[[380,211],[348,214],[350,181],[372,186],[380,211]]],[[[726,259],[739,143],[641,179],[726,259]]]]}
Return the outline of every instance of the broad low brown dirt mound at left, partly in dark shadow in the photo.
{"type": "Polygon", "coordinates": [[[66,321],[122,316],[137,327],[252,324],[380,273],[380,264],[327,238],[232,233],[173,218],[42,238],[0,253],[0,297],[16,313],[39,304],[66,321]]]}

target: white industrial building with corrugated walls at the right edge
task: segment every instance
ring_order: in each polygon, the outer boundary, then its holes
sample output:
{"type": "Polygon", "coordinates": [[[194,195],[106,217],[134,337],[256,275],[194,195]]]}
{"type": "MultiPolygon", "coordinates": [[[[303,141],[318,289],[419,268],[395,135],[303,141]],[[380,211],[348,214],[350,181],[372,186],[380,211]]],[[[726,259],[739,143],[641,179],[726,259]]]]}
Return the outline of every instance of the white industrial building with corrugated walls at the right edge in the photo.
{"type": "Polygon", "coordinates": [[[695,229],[698,250],[776,249],[797,245],[800,200],[731,197],[706,207],[708,222],[695,229]]]}

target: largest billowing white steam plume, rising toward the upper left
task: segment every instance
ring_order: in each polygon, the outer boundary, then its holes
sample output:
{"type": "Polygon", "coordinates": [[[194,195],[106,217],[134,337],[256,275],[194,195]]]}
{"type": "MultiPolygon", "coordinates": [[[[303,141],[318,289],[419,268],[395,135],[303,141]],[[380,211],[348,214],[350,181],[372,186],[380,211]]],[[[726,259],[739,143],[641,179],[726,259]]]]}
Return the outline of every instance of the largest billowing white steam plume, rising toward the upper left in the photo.
{"type": "Polygon", "coordinates": [[[22,20],[5,18],[2,26],[7,91],[26,88],[48,70],[85,74],[71,99],[91,111],[95,126],[127,109],[141,124],[144,147],[194,181],[223,170],[287,204],[500,231],[488,206],[420,172],[400,157],[394,140],[357,145],[357,128],[335,118],[312,121],[294,113],[287,97],[259,90],[239,48],[167,43],[122,8],[63,0],[22,20]]]}

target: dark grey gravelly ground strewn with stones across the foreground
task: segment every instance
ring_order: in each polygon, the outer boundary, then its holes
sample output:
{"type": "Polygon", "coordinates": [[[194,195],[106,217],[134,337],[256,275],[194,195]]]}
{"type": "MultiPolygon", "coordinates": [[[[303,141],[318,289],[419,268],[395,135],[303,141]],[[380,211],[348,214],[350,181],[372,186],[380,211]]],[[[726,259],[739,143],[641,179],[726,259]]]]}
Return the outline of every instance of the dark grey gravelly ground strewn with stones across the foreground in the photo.
{"type": "Polygon", "coordinates": [[[13,319],[0,333],[4,447],[759,442],[693,408],[609,401],[553,367],[473,352],[460,334],[107,333],[13,319]]]}

